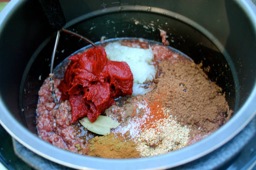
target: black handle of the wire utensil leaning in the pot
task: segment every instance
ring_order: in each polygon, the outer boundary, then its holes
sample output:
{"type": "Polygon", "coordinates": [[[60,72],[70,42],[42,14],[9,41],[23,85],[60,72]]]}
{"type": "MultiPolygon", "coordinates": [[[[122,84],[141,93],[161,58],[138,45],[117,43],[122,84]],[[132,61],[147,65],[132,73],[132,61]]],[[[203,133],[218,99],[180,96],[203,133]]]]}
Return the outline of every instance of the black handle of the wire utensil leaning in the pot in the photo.
{"type": "Polygon", "coordinates": [[[66,18],[64,12],[60,6],[59,0],[38,0],[50,27],[54,31],[62,29],[66,25],[66,18]]]}

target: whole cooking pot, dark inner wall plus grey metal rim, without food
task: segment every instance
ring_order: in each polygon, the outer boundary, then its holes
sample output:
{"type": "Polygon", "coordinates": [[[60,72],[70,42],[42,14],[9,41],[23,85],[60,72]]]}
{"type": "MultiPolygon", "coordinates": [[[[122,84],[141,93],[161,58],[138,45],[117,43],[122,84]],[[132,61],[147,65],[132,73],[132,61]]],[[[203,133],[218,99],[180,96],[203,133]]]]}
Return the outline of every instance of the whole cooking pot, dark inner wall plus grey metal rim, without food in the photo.
{"type": "MultiPolygon", "coordinates": [[[[0,123],[33,152],[77,169],[165,169],[195,160],[224,145],[256,114],[256,7],[250,0],[61,0],[60,3],[66,15],[66,28],[94,42],[101,36],[161,41],[158,28],[164,29],[172,47],[196,63],[202,61],[204,67],[210,66],[208,76],[223,88],[234,115],[206,139],[151,158],[94,158],[42,141],[34,135],[37,92],[49,74],[55,33],[35,0],[12,0],[0,14],[0,123]]],[[[86,45],[61,33],[55,63],[86,45]]]]}

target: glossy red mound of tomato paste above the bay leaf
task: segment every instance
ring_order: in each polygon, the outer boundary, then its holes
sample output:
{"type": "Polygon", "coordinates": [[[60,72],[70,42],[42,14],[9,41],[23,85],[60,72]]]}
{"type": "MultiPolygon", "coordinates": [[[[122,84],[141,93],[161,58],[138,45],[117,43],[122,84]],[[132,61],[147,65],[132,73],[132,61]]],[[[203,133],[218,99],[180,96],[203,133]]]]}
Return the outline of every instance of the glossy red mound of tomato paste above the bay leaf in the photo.
{"type": "Polygon", "coordinates": [[[72,106],[72,123],[81,117],[91,122],[108,107],[114,98],[132,95],[133,75],[126,62],[108,61],[105,49],[93,47],[81,55],[68,58],[71,63],[58,86],[61,101],[72,106]]]}

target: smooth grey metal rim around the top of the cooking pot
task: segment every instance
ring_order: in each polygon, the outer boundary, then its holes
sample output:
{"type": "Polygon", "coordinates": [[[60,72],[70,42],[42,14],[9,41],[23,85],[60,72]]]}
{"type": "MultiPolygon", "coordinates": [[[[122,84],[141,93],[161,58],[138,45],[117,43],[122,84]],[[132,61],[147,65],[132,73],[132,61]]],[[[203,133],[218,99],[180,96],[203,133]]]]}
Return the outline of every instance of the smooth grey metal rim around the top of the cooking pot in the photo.
{"type": "MultiPolygon", "coordinates": [[[[240,8],[250,18],[251,24],[254,26],[254,32],[256,33],[256,7],[250,0],[236,0],[240,8]]],[[[0,30],[4,27],[8,16],[19,7],[22,0],[12,0],[3,12],[0,14],[0,30]]],[[[19,141],[22,145],[32,150],[36,154],[76,169],[166,169],[185,164],[197,158],[200,158],[209,152],[224,145],[236,134],[238,134],[256,115],[256,86],[252,89],[252,92],[245,104],[240,110],[223,125],[220,129],[214,132],[212,135],[199,141],[198,143],[188,146],[182,150],[164,154],[160,156],[154,156],[150,158],[136,158],[136,159],[106,159],[96,158],[90,156],[83,156],[74,154],[66,150],[59,149],[53,145],[46,143],[33,135],[28,129],[23,127],[4,106],[2,98],[0,98],[0,123],[6,129],[6,131],[19,141]],[[17,131],[19,129],[19,131],[17,131]],[[42,147],[43,146],[43,147],[42,147]]]]}

